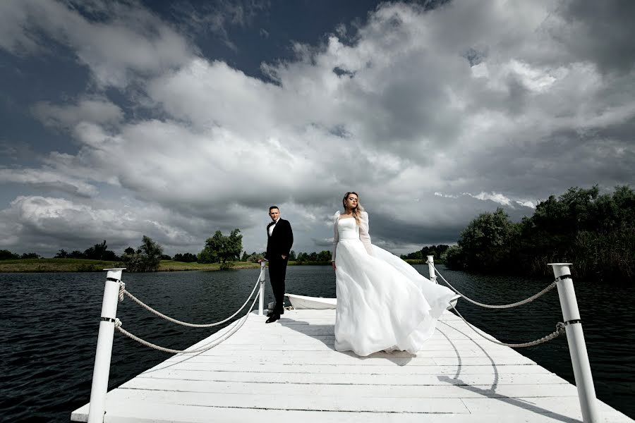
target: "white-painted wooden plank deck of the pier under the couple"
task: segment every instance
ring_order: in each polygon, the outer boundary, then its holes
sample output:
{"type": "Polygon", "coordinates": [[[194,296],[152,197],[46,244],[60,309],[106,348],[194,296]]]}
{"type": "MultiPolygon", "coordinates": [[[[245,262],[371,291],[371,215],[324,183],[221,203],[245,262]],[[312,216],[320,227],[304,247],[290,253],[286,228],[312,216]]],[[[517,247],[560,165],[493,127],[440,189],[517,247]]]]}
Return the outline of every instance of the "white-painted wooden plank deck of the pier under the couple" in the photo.
{"type": "MultiPolygon", "coordinates": [[[[334,320],[334,309],[291,310],[273,324],[254,312],[216,348],[173,356],[110,391],[104,422],[582,421],[575,386],[450,312],[416,356],[339,353],[334,320]]],[[[599,400],[598,412],[601,422],[634,422],[599,400]]],[[[88,404],[71,420],[87,417],[88,404]]]]}

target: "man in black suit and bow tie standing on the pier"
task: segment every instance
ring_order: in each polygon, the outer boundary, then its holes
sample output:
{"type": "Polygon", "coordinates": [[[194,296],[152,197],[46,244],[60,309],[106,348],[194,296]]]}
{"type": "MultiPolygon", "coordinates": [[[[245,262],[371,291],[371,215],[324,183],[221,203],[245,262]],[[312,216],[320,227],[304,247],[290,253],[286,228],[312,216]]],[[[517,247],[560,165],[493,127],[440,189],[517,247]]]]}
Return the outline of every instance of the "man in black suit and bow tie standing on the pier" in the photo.
{"type": "Polygon", "coordinates": [[[277,206],[269,208],[271,223],[267,225],[267,253],[265,259],[269,260],[269,278],[271,288],[276,299],[276,305],[272,312],[267,314],[265,323],[272,323],[284,314],[284,276],[286,276],[286,262],[289,259],[291,245],[294,245],[294,232],[291,231],[289,221],[280,219],[280,209],[277,206]]]}

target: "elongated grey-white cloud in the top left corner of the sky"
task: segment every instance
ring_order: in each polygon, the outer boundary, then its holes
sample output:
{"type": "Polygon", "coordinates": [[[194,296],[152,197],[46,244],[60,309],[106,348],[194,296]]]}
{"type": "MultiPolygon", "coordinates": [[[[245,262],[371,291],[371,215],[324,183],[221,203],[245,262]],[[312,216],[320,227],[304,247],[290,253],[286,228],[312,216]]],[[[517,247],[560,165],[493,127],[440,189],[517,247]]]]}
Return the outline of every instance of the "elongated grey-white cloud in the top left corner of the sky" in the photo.
{"type": "Polygon", "coordinates": [[[193,49],[157,16],[135,4],[85,4],[104,17],[88,20],[59,1],[9,0],[0,5],[0,47],[14,54],[47,54],[44,36],[75,52],[97,84],[126,87],[135,76],[169,71],[193,49]],[[25,49],[25,51],[22,51],[25,49]]]}

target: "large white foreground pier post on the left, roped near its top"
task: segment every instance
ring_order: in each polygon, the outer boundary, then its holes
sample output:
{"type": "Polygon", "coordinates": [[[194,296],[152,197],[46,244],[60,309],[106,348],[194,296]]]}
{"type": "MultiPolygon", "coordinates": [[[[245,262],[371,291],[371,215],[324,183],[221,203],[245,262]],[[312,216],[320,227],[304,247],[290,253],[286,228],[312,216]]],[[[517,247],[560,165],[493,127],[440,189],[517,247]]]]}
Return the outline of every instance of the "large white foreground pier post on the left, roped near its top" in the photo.
{"type": "Polygon", "coordinates": [[[95,368],[92,370],[88,423],[104,422],[110,358],[112,356],[112,339],[114,337],[114,321],[117,317],[119,281],[121,281],[121,271],[123,269],[125,268],[104,269],[108,273],[106,274],[106,287],[104,288],[104,300],[102,302],[102,321],[99,322],[99,335],[97,336],[95,368]]]}

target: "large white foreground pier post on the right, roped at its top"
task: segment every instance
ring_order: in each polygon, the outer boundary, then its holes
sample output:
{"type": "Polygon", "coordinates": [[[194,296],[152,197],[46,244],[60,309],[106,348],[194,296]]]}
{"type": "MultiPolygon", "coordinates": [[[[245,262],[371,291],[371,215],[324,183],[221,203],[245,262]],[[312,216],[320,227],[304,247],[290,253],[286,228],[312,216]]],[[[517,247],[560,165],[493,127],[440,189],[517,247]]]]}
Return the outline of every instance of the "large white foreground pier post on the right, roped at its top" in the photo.
{"type": "Polygon", "coordinates": [[[567,343],[569,343],[569,354],[571,364],[573,364],[580,407],[582,409],[582,420],[584,423],[596,423],[600,419],[595,407],[595,386],[593,386],[593,376],[591,366],[588,363],[586,353],[586,343],[584,343],[584,333],[580,322],[580,312],[576,292],[571,279],[569,265],[571,263],[550,263],[553,267],[553,274],[557,280],[558,296],[560,297],[560,307],[562,307],[562,318],[564,319],[565,331],[567,332],[567,343]]]}

